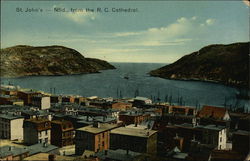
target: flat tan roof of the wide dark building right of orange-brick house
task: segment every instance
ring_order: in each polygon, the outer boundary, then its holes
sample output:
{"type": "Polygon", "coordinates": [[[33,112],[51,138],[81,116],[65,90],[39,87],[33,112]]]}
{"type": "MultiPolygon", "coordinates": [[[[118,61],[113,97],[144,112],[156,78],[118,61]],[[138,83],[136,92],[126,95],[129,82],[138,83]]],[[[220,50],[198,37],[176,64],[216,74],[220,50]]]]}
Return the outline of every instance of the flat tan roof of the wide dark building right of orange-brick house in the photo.
{"type": "Polygon", "coordinates": [[[149,137],[155,134],[155,130],[145,130],[142,128],[119,127],[111,130],[112,134],[129,135],[137,137],[149,137]]]}

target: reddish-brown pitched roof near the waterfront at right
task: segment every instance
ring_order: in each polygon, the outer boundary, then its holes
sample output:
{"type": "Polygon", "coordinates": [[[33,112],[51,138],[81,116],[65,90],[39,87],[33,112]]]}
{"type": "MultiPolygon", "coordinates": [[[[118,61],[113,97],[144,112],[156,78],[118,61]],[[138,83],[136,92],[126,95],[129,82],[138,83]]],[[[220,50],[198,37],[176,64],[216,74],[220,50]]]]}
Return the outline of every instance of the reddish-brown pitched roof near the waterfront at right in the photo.
{"type": "Polygon", "coordinates": [[[223,119],[227,112],[226,108],[215,107],[215,106],[203,106],[198,113],[198,117],[201,118],[214,118],[214,119],[223,119]]]}

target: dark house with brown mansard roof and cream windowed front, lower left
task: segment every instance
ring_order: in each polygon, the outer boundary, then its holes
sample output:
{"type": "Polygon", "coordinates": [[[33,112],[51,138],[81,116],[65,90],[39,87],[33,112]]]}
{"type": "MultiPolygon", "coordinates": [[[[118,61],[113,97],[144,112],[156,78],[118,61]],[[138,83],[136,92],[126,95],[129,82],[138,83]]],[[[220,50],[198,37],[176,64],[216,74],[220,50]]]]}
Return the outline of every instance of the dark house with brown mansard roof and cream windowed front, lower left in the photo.
{"type": "Polygon", "coordinates": [[[48,119],[33,118],[24,121],[23,135],[25,144],[50,144],[51,122],[48,119]]]}

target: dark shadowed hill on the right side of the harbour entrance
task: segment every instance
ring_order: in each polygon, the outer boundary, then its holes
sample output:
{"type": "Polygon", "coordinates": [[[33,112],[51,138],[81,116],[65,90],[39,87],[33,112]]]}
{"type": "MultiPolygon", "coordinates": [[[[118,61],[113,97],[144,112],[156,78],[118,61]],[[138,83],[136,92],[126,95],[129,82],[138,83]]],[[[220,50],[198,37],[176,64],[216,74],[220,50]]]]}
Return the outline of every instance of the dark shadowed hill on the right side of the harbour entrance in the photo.
{"type": "Polygon", "coordinates": [[[179,80],[202,80],[249,88],[249,42],[209,45],[183,56],[150,75],[179,80]]]}

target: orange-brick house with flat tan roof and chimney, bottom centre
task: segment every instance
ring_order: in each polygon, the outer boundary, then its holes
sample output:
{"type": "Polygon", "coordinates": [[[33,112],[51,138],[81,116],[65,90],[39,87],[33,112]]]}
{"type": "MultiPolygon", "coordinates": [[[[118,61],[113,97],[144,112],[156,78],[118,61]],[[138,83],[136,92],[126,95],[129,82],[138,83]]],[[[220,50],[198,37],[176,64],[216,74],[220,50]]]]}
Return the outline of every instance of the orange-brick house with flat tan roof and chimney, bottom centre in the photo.
{"type": "Polygon", "coordinates": [[[76,129],[76,155],[82,155],[85,150],[94,152],[108,150],[110,147],[110,131],[117,128],[116,124],[100,124],[76,129]]]}

